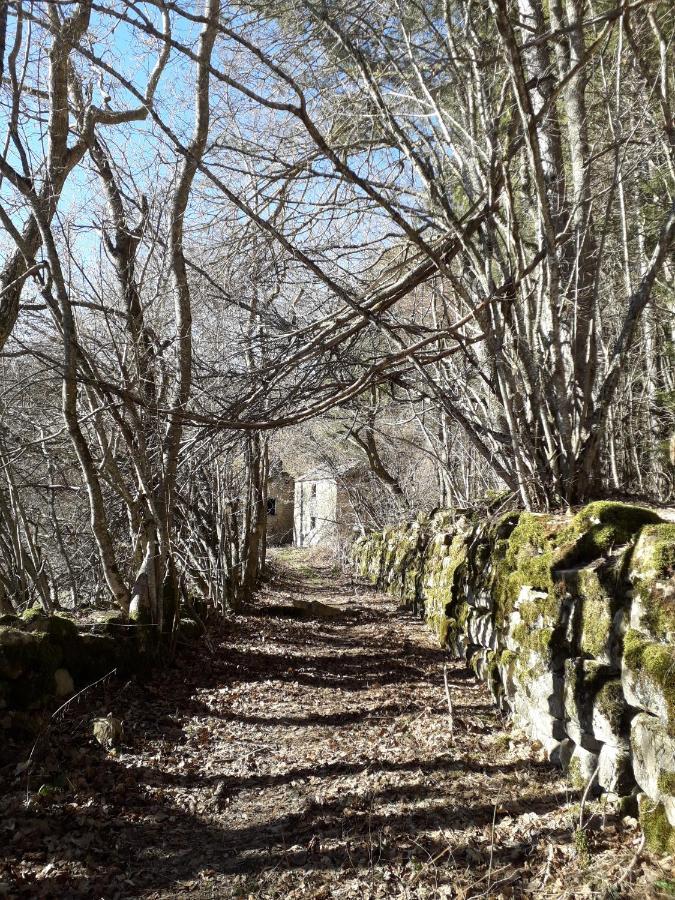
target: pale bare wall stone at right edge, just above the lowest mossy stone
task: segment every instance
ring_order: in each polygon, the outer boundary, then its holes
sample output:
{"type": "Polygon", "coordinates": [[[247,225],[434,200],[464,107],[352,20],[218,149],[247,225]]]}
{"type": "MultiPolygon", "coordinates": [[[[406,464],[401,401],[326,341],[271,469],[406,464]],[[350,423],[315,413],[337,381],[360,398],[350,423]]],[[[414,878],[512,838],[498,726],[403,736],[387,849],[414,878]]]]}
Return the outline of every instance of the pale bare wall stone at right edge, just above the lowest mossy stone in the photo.
{"type": "Polygon", "coordinates": [[[639,713],[630,735],[635,780],[675,826],[675,738],[654,716],[639,713]]]}

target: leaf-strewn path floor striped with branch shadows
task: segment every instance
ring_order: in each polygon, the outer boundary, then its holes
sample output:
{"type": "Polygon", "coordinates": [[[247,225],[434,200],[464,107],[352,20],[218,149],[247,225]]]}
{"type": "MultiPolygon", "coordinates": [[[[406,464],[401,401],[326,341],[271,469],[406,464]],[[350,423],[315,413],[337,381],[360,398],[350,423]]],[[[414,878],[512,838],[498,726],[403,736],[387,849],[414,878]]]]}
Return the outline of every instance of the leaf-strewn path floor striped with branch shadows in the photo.
{"type": "Polygon", "coordinates": [[[450,662],[453,739],[446,661],[391,598],[276,551],[255,609],[52,720],[30,780],[30,744],[0,754],[0,897],[672,897],[635,820],[589,803],[575,837],[579,792],[450,662]]]}

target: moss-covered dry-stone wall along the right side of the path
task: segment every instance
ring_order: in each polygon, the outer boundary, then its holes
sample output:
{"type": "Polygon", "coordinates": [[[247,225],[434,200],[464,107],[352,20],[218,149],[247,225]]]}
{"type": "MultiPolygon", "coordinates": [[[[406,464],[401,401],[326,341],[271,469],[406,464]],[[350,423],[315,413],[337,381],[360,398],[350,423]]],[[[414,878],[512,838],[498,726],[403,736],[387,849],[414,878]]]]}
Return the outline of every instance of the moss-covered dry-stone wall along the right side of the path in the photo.
{"type": "Polygon", "coordinates": [[[446,510],[352,554],[575,786],[595,773],[596,792],[636,799],[649,846],[675,852],[675,524],[607,502],[478,522],[446,510]]]}

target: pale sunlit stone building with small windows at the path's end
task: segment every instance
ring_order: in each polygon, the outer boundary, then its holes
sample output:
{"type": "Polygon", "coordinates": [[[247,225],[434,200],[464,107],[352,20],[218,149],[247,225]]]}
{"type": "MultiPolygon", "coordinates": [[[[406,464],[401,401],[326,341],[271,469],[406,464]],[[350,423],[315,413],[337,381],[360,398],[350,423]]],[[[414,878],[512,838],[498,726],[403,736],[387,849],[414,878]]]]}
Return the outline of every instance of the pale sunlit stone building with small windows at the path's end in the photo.
{"type": "Polygon", "coordinates": [[[337,547],[349,538],[356,522],[349,501],[349,482],[356,469],[333,473],[317,469],[295,481],[293,543],[296,547],[337,547]]]}

